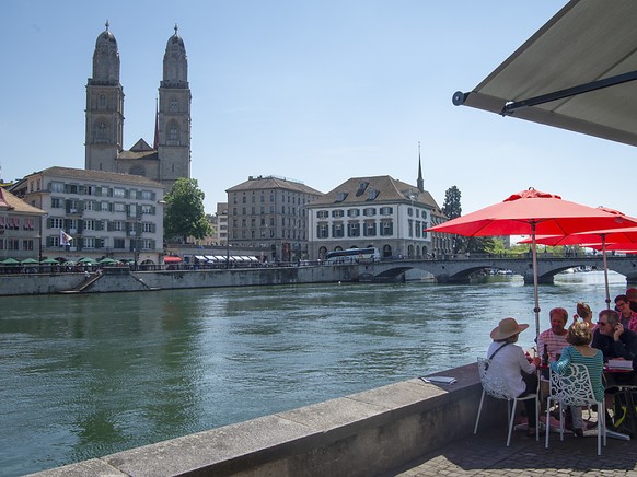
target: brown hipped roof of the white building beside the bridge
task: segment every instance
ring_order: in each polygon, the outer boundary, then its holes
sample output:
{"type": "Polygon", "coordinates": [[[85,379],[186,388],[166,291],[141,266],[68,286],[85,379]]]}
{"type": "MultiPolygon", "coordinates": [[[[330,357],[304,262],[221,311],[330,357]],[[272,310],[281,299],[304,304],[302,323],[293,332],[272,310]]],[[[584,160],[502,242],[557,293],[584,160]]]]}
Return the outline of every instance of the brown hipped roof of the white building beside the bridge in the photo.
{"type": "Polygon", "coordinates": [[[418,187],[392,178],[389,175],[352,177],[320,199],[314,200],[309,207],[332,206],[334,203],[360,206],[396,202],[413,202],[419,206],[427,206],[436,211],[440,210],[440,207],[427,190],[420,191],[418,187]]]}

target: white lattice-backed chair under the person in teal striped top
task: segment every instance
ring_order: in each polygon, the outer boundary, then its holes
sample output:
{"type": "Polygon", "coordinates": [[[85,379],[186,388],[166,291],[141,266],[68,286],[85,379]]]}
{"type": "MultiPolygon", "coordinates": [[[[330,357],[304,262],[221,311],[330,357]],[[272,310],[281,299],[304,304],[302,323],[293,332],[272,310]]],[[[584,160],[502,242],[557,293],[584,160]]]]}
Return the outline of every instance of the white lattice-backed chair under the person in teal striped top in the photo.
{"type": "MultiPolygon", "coordinates": [[[[546,398],[546,422],[551,419],[552,404],[559,403],[565,406],[592,406],[598,405],[598,455],[602,454],[602,441],[606,445],[606,410],[604,399],[595,399],[589,370],[583,364],[571,363],[568,373],[561,375],[549,373],[549,391],[546,398]]],[[[551,426],[546,426],[545,447],[548,449],[548,434],[551,426]]],[[[564,441],[564,412],[559,415],[559,439],[564,441]]]]}

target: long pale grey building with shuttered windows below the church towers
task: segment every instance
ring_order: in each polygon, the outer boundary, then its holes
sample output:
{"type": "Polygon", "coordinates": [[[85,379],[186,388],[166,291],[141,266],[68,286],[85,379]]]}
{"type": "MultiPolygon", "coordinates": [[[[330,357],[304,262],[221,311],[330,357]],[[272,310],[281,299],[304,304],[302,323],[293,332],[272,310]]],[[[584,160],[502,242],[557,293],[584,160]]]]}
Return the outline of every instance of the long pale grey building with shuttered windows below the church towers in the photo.
{"type": "Polygon", "coordinates": [[[49,257],[160,263],[164,214],[160,183],[129,174],[49,167],[16,182],[11,191],[46,212],[42,246],[49,257]]]}

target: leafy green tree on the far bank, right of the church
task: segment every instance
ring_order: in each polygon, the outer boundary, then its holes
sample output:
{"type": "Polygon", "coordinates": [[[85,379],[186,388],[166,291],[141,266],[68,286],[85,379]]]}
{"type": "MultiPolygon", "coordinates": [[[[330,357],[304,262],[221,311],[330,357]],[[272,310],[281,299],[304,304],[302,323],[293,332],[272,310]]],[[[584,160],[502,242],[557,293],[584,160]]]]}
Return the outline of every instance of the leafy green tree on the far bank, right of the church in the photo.
{"type": "Polygon", "coordinates": [[[204,210],[205,197],[196,179],[179,177],[175,181],[170,193],[164,197],[166,202],[164,237],[166,240],[179,237],[186,242],[189,236],[204,238],[212,232],[204,210]]]}

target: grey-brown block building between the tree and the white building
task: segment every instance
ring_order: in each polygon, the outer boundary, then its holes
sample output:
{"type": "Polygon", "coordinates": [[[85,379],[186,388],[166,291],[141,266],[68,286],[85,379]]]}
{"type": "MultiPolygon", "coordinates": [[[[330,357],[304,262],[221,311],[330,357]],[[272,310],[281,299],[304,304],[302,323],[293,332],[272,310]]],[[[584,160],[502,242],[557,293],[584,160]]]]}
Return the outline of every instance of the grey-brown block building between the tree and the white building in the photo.
{"type": "Polygon", "coordinates": [[[268,261],[308,258],[306,207],[322,193],[275,176],[248,177],[227,193],[231,246],[259,248],[268,261]]]}

